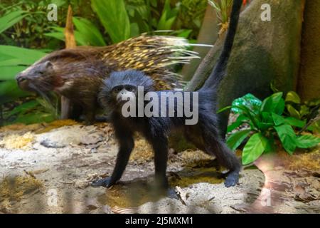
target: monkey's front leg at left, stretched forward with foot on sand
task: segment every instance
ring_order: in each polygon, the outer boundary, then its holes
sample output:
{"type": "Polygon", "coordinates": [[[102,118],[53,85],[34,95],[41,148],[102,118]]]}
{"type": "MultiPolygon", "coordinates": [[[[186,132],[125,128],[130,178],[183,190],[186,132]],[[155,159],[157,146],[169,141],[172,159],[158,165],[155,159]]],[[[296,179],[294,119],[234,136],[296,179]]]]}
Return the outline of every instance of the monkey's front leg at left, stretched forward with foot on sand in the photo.
{"type": "Polygon", "coordinates": [[[96,182],[92,182],[92,187],[111,187],[114,185],[120,178],[127,166],[129,161],[130,154],[134,147],[134,140],[132,135],[122,135],[122,138],[119,138],[119,152],[117,155],[116,165],[114,166],[114,170],[112,172],[111,177],[103,178],[101,180],[97,180],[96,182]]]}

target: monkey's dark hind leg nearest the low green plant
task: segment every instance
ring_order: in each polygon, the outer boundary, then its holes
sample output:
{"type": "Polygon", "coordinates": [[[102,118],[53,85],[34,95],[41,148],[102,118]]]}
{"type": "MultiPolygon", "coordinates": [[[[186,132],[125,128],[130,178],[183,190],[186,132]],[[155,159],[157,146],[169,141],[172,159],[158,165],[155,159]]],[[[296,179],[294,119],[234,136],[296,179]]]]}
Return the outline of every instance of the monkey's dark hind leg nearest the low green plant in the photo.
{"type": "Polygon", "coordinates": [[[239,172],[241,170],[238,157],[225,145],[223,140],[218,138],[218,133],[214,130],[204,130],[203,140],[206,152],[215,155],[218,162],[229,170],[225,179],[225,187],[235,186],[239,181],[239,172]]]}

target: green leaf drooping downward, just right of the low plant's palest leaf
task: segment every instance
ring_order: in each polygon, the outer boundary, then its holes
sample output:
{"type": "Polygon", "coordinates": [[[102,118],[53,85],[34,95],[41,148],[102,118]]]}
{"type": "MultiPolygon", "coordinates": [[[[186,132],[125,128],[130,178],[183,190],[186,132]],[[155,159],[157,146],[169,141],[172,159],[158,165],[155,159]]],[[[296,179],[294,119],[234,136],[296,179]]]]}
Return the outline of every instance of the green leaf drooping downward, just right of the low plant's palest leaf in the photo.
{"type": "Polygon", "coordinates": [[[296,138],[297,135],[290,125],[284,124],[275,126],[274,129],[277,131],[279,138],[282,142],[284,150],[286,150],[290,155],[296,150],[296,138]]]}

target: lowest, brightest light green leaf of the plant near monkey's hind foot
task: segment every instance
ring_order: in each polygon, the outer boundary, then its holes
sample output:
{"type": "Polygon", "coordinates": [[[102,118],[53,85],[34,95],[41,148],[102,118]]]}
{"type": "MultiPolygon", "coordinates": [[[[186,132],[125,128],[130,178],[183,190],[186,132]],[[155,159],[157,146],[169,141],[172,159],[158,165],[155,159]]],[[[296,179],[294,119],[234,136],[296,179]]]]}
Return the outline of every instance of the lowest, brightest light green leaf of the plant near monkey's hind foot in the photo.
{"type": "Polygon", "coordinates": [[[247,141],[242,152],[242,164],[247,165],[257,160],[267,147],[267,138],[261,133],[255,133],[247,141]]]}

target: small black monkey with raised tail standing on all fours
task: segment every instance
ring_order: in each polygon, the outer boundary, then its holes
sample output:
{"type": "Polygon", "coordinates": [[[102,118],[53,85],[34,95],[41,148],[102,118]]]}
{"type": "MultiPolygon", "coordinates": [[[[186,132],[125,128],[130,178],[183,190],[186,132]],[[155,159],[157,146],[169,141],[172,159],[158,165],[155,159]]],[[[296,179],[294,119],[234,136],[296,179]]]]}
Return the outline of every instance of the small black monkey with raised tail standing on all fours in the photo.
{"type": "MultiPolygon", "coordinates": [[[[137,97],[137,86],[144,86],[144,93],[152,91],[153,82],[151,78],[140,71],[114,72],[110,78],[104,81],[104,86],[102,86],[102,91],[99,95],[100,102],[108,110],[112,110],[111,122],[114,126],[115,135],[119,140],[119,152],[112,176],[97,180],[97,182],[92,183],[92,186],[111,187],[122,177],[129,155],[134,147],[132,135],[138,131],[144,135],[154,149],[156,183],[159,187],[167,189],[169,186],[166,178],[166,163],[168,160],[167,135],[171,130],[183,130],[186,138],[193,142],[196,147],[210,155],[215,155],[220,165],[228,168],[229,172],[225,180],[226,187],[234,186],[238,183],[241,165],[235,154],[219,137],[215,115],[215,97],[217,87],[223,76],[225,76],[225,66],[228,63],[233,46],[241,5],[241,0],[233,1],[230,26],[225,38],[223,51],[210,77],[203,87],[198,90],[198,123],[196,125],[185,124],[185,120],[188,119],[185,113],[183,113],[182,117],[125,118],[122,115],[122,105],[126,101],[122,100],[122,96],[135,95],[137,97]]],[[[171,92],[182,93],[183,99],[187,93],[181,91],[171,92]]],[[[161,100],[161,91],[155,93],[161,100]]],[[[177,110],[178,104],[174,102],[172,105],[172,107],[167,105],[166,110],[170,108],[177,110]]]]}

